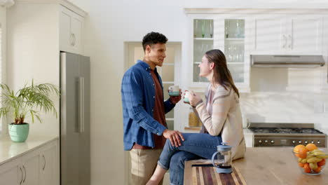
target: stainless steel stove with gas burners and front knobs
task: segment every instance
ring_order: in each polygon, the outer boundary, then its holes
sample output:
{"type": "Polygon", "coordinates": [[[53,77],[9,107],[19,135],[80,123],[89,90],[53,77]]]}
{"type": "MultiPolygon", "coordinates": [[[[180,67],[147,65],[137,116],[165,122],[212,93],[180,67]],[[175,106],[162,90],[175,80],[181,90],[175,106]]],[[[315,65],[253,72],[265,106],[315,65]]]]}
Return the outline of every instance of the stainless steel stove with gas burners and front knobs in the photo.
{"type": "Polygon", "coordinates": [[[313,143],[326,147],[326,135],[313,123],[250,123],[254,147],[296,146],[313,143]]]}

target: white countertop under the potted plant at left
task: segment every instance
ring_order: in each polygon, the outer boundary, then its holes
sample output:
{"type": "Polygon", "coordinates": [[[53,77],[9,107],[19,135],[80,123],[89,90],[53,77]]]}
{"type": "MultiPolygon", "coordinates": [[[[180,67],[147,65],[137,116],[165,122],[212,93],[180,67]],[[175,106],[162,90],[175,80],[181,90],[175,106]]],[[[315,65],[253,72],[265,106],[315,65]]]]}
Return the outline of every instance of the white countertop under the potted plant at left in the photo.
{"type": "Polygon", "coordinates": [[[0,137],[0,165],[18,158],[39,146],[53,142],[58,136],[32,136],[29,135],[25,142],[12,142],[9,136],[0,137]]]}

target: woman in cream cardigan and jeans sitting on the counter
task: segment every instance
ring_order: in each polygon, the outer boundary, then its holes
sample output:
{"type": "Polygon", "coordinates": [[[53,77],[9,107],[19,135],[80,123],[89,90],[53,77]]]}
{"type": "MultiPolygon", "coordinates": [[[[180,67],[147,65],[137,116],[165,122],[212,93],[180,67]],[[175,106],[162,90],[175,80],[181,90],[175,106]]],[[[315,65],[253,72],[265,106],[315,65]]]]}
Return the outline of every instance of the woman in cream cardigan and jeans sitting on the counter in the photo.
{"type": "Polygon", "coordinates": [[[184,141],[179,147],[165,143],[158,165],[148,183],[158,184],[170,168],[171,184],[184,183],[184,160],[212,157],[221,142],[232,146],[233,160],[245,154],[245,139],[242,132],[242,117],[238,89],[233,83],[226,65],[226,57],[221,50],[209,50],[202,58],[199,76],[210,81],[205,93],[206,102],[191,91],[189,102],[203,123],[201,133],[184,133],[184,141]]]}

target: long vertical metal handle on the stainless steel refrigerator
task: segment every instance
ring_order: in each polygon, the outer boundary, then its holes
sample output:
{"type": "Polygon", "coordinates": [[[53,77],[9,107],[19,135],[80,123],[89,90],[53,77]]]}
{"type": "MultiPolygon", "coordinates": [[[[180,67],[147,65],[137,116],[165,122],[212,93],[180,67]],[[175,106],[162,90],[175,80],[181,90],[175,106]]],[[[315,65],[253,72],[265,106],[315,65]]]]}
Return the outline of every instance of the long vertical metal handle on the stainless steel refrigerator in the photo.
{"type": "Polygon", "coordinates": [[[78,132],[84,132],[84,78],[78,77],[78,132]]]}

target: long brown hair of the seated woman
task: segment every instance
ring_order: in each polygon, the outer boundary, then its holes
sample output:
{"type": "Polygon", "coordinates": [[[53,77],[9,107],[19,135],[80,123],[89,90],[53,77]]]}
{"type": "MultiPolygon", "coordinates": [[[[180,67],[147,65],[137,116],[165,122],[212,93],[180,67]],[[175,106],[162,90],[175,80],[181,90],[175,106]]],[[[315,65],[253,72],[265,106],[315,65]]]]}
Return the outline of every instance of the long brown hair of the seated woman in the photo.
{"type": "Polygon", "coordinates": [[[214,62],[213,81],[222,85],[226,90],[233,88],[239,97],[238,88],[235,87],[231,73],[226,65],[224,53],[221,50],[209,50],[205,53],[205,57],[207,57],[208,62],[214,62]]]}

